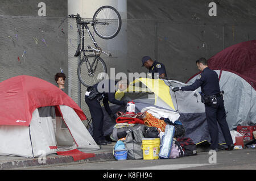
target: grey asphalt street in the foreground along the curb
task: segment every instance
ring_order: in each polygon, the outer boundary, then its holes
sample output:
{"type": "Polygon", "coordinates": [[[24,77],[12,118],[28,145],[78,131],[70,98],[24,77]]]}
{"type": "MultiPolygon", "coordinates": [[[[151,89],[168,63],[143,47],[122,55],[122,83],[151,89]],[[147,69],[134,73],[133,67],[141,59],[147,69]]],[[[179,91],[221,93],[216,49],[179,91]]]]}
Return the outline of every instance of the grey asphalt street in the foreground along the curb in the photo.
{"type": "Polygon", "coordinates": [[[177,159],[125,160],[41,167],[44,170],[255,170],[256,149],[220,150],[177,159]]]}

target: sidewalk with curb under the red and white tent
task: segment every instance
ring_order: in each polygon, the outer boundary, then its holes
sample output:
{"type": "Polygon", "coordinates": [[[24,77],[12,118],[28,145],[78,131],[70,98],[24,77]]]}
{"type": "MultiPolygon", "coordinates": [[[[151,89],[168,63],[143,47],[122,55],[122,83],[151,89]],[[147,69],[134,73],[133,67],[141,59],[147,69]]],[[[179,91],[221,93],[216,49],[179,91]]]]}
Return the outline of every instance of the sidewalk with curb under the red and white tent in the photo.
{"type": "Polygon", "coordinates": [[[95,153],[96,157],[83,159],[80,161],[73,161],[72,156],[63,156],[57,154],[51,154],[46,156],[45,163],[39,158],[24,158],[24,157],[5,157],[0,156],[0,170],[6,169],[26,169],[26,168],[36,168],[36,167],[47,167],[52,165],[73,165],[79,163],[93,163],[93,162],[105,162],[105,161],[115,161],[113,155],[114,142],[110,145],[101,146],[100,150],[90,151],[86,153],[95,153]]]}

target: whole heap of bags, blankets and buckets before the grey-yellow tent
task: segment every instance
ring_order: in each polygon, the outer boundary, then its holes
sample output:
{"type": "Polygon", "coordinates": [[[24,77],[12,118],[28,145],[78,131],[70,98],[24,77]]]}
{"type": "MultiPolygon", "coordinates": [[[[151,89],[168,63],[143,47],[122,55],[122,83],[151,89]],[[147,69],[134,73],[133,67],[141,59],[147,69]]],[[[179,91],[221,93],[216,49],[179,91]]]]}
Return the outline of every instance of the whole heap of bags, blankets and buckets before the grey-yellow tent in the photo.
{"type": "Polygon", "coordinates": [[[147,111],[117,112],[115,120],[117,124],[113,128],[112,139],[124,141],[127,159],[180,158],[197,154],[196,145],[191,138],[184,137],[183,124],[177,120],[179,113],[170,113],[166,110],[161,112],[160,109],[156,113],[148,111],[148,108],[144,110],[147,111]],[[159,145],[155,144],[157,139],[159,139],[159,145]],[[147,144],[148,147],[145,148],[143,142],[145,144],[152,141],[156,146],[150,148],[147,144]],[[148,154],[152,155],[148,157],[148,154]]]}

